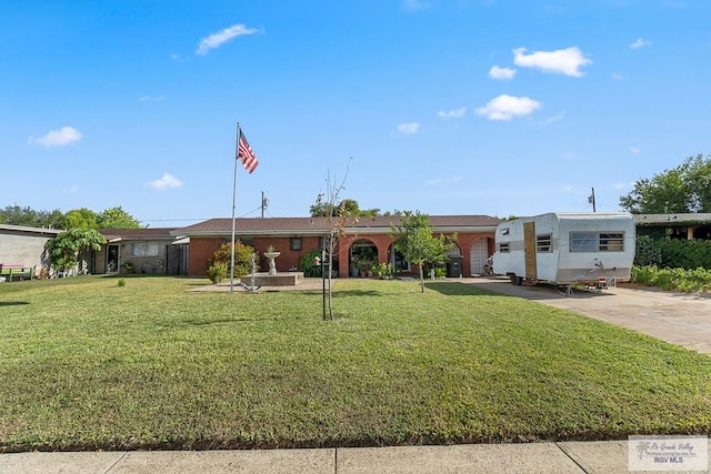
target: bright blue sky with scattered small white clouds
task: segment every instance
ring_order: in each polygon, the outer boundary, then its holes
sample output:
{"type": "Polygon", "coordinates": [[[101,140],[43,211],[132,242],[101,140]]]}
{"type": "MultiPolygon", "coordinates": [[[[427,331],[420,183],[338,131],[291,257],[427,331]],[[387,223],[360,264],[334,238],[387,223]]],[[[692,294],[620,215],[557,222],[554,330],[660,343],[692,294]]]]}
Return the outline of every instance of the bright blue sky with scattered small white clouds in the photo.
{"type": "Polygon", "coordinates": [[[0,3],[0,208],[619,210],[711,152],[707,0],[0,3]]]}

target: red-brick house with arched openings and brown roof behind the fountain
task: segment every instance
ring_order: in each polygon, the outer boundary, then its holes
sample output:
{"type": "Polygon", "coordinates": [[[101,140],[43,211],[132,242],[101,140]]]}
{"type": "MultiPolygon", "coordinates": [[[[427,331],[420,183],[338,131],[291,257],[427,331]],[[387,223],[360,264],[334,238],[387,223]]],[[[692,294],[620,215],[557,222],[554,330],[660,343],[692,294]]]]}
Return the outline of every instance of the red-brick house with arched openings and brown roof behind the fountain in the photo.
{"type": "MultiPolygon", "coordinates": [[[[333,269],[338,276],[357,275],[357,263],[392,263],[398,274],[414,273],[399,252],[393,250],[394,238],[391,224],[398,224],[399,216],[374,216],[347,219],[343,235],[339,239],[338,254],[333,269]]],[[[494,231],[501,222],[489,215],[431,215],[434,235],[457,234],[455,246],[450,251],[448,276],[471,276],[480,274],[487,259],[494,251],[494,231]]],[[[314,249],[321,248],[321,239],[327,235],[324,218],[268,218],[237,219],[236,240],[254,248],[260,255],[260,268],[267,269],[263,252],[270,245],[281,252],[277,259],[277,271],[287,272],[299,268],[299,259],[314,249]]],[[[232,238],[231,219],[210,219],[193,225],[176,229],[174,236],[190,239],[188,274],[202,276],[208,271],[208,260],[222,244],[232,238]]]]}

